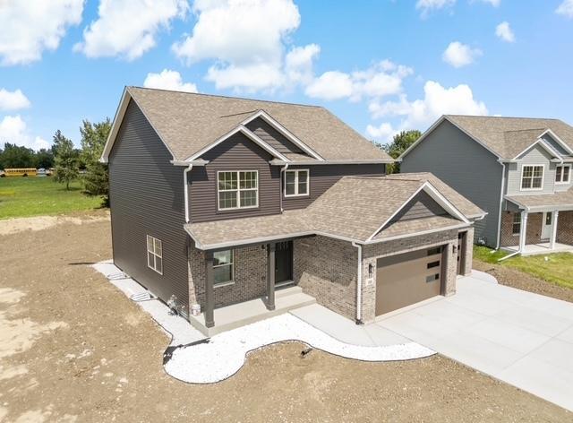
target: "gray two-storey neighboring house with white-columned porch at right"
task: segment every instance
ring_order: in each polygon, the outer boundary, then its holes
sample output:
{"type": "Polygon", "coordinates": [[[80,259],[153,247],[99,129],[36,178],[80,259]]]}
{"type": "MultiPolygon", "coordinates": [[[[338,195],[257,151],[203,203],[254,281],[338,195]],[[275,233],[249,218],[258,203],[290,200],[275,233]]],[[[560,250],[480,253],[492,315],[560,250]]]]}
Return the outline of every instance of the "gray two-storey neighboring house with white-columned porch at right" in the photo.
{"type": "Polygon", "coordinates": [[[573,127],[560,120],[444,116],[398,160],[488,212],[476,243],[522,254],[573,244],[573,127]]]}

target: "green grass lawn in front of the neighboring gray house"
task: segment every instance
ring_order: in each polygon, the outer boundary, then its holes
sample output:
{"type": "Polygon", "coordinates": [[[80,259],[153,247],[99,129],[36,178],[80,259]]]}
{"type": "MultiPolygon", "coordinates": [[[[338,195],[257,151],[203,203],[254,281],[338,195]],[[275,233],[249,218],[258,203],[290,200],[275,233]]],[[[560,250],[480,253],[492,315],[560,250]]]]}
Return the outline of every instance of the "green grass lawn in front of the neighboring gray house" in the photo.
{"type": "Polygon", "coordinates": [[[527,255],[525,257],[516,255],[503,262],[498,262],[505,255],[508,253],[502,251],[492,253],[492,250],[486,246],[474,247],[474,258],[477,260],[513,267],[543,279],[543,281],[573,289],[573,254],[555,253],[552,255],[527,255]]]}

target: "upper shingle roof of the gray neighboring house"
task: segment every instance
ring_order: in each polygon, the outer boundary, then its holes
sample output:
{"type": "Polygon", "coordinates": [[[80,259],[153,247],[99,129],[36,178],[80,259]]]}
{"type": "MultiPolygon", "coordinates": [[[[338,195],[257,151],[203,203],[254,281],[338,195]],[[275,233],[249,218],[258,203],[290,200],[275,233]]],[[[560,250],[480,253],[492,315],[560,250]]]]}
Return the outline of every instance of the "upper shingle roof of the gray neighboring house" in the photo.
{"type": "Polygon", "coordinates": [[[559,119],[533,117],[474,117],[447,115],[467,134],[483,142],[500,158],[511,160],[537,140],[547,129],[573,149],[573,127],[559,119]]]}

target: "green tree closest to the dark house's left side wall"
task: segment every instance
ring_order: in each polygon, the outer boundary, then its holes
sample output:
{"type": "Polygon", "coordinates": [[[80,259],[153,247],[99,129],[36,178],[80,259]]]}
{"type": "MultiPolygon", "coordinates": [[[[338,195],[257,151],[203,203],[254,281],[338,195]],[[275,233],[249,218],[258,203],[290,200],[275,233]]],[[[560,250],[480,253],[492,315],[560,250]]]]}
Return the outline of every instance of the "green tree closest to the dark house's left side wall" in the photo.
{"type": "Polygon", "coordinates": [[[111,121],[92,124],[83,121],[81,132],[81,161],[85,164],[86,173],[83,177],[83,194],[101,196],[102,205],[109,207],[109,175],[107,164],[99,161],[106,145],[107,136],[111,130],[111,121]]]}

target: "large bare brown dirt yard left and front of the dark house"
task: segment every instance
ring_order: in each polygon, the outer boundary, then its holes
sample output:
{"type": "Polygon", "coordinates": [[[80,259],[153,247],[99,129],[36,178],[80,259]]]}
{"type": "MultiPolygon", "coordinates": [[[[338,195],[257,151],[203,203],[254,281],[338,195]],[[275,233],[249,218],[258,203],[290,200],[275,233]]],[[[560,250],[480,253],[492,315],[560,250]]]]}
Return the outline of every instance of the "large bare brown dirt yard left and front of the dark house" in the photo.
{"type": "Polygon", "coordinates": [[[433,356],[363,363],[300,343],[254,351],[219,384],[167,376],[167,335],[87,265],[109,224],[0,236],[0,421],[572,421],[573,413],[433,356]]]}

